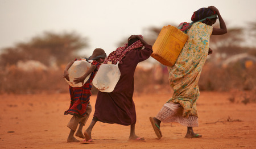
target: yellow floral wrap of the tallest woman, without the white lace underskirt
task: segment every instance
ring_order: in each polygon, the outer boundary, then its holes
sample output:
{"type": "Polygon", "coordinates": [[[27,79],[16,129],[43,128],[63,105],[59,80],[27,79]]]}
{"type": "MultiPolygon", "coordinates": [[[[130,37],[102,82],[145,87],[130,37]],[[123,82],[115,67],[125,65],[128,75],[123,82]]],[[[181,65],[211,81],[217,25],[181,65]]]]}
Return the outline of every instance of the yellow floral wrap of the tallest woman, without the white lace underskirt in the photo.
{"type": "Polygon", "coordinates": [[[194,23],[175,65],[168,67],[170,85],[174,89],[168,102],[179,103],[183,107],[183,117],[198,117],[196,100],[200,93],[197,84],[207,59],[211,34],[212,26],[194,23]]]}

